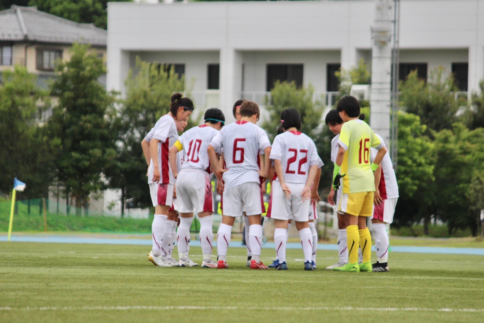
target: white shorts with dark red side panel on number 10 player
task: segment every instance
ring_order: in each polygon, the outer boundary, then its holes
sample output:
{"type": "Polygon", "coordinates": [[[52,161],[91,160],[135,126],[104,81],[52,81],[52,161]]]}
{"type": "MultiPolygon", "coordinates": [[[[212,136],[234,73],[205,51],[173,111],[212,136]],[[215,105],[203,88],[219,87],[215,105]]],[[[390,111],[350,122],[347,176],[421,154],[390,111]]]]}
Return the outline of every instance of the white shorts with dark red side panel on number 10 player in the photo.
{"type": "Polygon", "coordinates": [[[182,169],[177,176],[178,211],[213,212],[212,182],[204,170],[182,169]]]}

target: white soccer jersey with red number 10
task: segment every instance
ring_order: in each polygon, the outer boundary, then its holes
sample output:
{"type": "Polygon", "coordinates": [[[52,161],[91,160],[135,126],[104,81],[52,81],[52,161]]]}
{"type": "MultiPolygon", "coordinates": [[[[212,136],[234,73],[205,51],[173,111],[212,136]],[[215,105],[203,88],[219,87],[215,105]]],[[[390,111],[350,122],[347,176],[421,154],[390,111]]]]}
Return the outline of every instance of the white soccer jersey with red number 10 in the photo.
{"type": "Polygon", "coordinates": [[[178,139],[183,145],[182,169],[200,169],[210,173],[210,159],[207,147],[218,134],[218,130],[202,124],[183,133],[178,139]]]}

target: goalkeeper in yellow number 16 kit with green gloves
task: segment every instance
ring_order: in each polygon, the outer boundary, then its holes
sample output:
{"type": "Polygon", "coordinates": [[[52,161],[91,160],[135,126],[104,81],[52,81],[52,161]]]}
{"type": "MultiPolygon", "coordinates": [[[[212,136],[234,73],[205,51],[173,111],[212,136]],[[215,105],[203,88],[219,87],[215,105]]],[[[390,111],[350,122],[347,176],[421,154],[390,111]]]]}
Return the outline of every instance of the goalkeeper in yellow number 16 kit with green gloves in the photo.
{"type": "Polygon", "coordinates": [[[372,215],[375,178],[373,171],[378,168],[387,150],[373,130],[359,120],[360,103],[350,95],[343,96],[336,106],[344,121],[338,139],[338,154],[333,170],[334,179],[343,176],[343,190],[338,211],[343,212],[348,242],[348,263],[335,267],[336,271],[372,271],[370,262],[371,236],[366,227],[366,218],[372,215]],[[375,160],[370,165],[370,147],[378,149],[375,160]],[[358,265],[358,246],[361,245],[363,262],[358,265]]]}

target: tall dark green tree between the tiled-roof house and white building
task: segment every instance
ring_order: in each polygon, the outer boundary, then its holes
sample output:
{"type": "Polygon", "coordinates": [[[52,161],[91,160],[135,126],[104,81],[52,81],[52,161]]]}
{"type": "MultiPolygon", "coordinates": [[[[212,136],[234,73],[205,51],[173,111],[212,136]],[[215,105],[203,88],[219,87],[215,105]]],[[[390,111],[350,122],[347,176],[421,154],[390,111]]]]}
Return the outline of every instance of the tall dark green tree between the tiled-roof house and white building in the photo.
{"type": "Polygon", "coordinates": [[[59,148],[57,180],[76,201],[87,206],[90,193],[105,188],[103,172],[117,158],[115,97],[97,79],[106,73],[103,60],[86,45],[74,44],[69,62],[59,61],[51,95],[59,98],[49,120],[49,136],[59,148]]]}

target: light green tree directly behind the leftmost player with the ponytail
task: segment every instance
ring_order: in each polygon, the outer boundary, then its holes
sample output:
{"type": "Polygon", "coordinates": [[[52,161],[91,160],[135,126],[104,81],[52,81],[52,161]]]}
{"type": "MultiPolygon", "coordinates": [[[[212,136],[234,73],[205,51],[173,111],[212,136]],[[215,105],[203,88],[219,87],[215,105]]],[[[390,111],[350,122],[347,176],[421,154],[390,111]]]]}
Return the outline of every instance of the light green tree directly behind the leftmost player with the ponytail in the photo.
{"type": "MultiPolygon", "coordinates": [[[[140,142],[169,111],[171,95],[184,91],[185,80],[175,74],[173,67],[167,70],[165,66],[142,62],[139,58],[136,58],[135,70],[129,71],[125,81],[126,99],[120,109],[119,158],[108,173],[110,186],[121,189],[122,200],[129,199],[139,207],[148,207],[151,206],[146,185],[148,167],[140,142]]],[[[186,129],[195,124],[190,120],[186,129]]]]}

